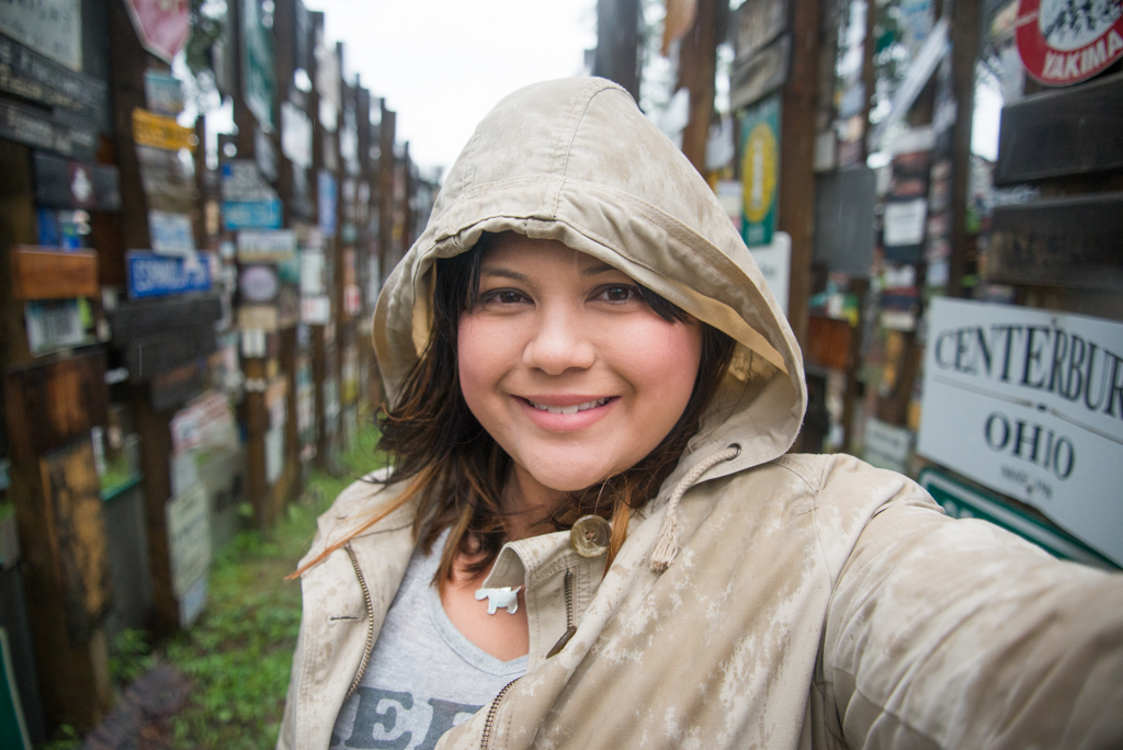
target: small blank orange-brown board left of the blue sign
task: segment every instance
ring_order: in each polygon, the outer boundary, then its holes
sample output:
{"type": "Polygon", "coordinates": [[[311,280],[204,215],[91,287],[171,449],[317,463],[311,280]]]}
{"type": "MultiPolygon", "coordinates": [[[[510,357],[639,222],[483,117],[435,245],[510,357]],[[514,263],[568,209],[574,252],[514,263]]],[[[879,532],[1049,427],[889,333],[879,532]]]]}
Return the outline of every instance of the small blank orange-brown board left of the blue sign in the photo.
{"type": "Polygon", "coordinates": [[[11,294],[16,300],[97,296],[98,254],[21,245],[11,250],[11,294]]]}

